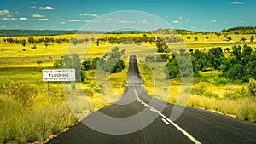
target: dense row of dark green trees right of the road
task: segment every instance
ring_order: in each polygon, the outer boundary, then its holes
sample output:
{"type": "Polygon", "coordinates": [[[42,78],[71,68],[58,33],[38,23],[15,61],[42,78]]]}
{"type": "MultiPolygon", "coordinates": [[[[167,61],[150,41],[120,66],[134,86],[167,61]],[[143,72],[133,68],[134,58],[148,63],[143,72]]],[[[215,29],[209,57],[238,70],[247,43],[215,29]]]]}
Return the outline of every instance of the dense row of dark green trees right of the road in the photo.
{"type": "Polygon", "coordinates": [[[248,45],[235,45],[230,53],[224,53],[221,47],[209,49],[207,52],[199,49],[189,51],[179,49],[172,53],[166,63],[166,74],[169,78],[188,77],[192,73],[199,74],[199,71],[211,69],[222,72],[221,77],[231,81],[248,82],[249,78],[256,79],[256,52],[248,45]],[[189,63],[193,65],[190,66],[189,63]]]}

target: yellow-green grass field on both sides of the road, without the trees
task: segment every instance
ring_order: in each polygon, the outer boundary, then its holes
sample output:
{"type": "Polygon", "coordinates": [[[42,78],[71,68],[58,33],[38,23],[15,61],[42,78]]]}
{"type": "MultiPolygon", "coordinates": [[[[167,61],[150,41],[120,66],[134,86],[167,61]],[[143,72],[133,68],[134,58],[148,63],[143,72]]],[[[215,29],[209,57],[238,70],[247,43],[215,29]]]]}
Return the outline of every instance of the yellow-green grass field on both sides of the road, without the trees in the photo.
{"type": "MultiPolygon", "coordinates": [[[[167,37],[168,35],[159,35],[167,37]]],[[[256,43],[239,42],[241,37],[249,39],[251,35],[229,35],[230,42],[225,41],[221,35],[214,34],[183,35],[184,43],[169,44],[171,49],[210,49],[212,47],[231,48],[235,44],[247,43],[252,48],[256,48],[256,43]],[[187,39],[191,37],[191,39],[187,39]],[[194,37],[198,37],[195,41],[194,37]],[[206,39],[206,37],[209,37],[206,39]]],[[[73,35],[60,36],[33,36],[35,39],[42,37],[68,38],[73,35]]],[[[143,37],[143,34],[107,34],[107,35],[77,35],[78,39],[87,37],[143,37]]],[[[148,35],[148,37],[153,37],[148,35]]],[[[155,36],[157,37],[157,36],[155,36]]],[[[163,96],[162,88],[165,81],[164,63],[147,63],[145,57],[156,55],[155,46],[151,44],[109,44],[101,43],[96,46],[96,41],[79,43],[57,44],[53,43],[46,47],[43,43],[37,44],[37,49],[31,49],[32,44],[4,43],[0,37],[0,143],[13,141],[26,143],[28,141],[44,141],[49,135],[61,133],[65,128],[77,123],[88,113],[101,107],[108,106],[116,101],[122,94],[126,82],[126,72],[128,70],[128,56],[136,54],[139,61],[139,69],[143,79],[144,88],[150,95],[159,97],[171,103],[176,103],[180,94],[188,91],[181,89],[180,79],[168,81],[169,93],[163,96]],[[70,90],[70,84],[50,83],[50,101],[47,99],[47,83],[42,81],[42,70],[52,68],[55,60],[68,53],[79,54],[82,60],[95,57],[102,57],[106,52],[118,46],[125,49],[125,70],[120,73],[111,74],[105,78],[110,83],[104,84],[96,81],[94,70],[86,72],[85,83],[75,84],[75,89],[70,90]],[[26,50],[24,50],[26,49],[26,50]],[[37,61],[42,63],[38,64],[37,61]],[[158,68],[160,67],[160,68],[158,68]],[[154,79],[156,83],[154,83],[154,79]],[[109,85],[110,84],[110,85],[109,85]],[[104,89],[110,87],[110,90],[104,89]],[[64,89],[64,90],[63,90],[64,89]],[[109,94],[109,95],[108,95],[109,94]],[[167,97],[166,97],[167,96],[167,97]],[[20,122],[20,123],[17,123],[20,122]]],[[[27,39],[28,37],[13,37],[17,39],[27,39]]],[[[201,78],[194,78],[193,90],[189,99],[179,101],[180,104],[187,104],[191,107],[202,107],[209,110],[233,115],[236,118],[256,121],[256,100],[252,97],[242,95],[242,88],[246,84],[229,83],[224,86],[212,84],[214,76],[219,72],[201,72],[201,78]],[[199,95],[199,89],[203,89],[199,95]],[[230,95],[236,94],[236,97],[230,95]]],[[[102,78],[104,79],[104,78],[102,78]]]]}

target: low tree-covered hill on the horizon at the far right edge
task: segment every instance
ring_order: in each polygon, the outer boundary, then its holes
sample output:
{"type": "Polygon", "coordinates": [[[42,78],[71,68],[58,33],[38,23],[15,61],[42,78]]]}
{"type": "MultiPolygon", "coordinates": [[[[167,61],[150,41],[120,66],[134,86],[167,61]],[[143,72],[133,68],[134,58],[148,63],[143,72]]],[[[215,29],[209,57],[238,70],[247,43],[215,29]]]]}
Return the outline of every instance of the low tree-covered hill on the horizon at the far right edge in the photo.
{"type": "Polygon", "coordinates": [[[256,34],[256,26],[232,27],[227,30],[222,30],[221,32],[228,34],[256,34]]]}

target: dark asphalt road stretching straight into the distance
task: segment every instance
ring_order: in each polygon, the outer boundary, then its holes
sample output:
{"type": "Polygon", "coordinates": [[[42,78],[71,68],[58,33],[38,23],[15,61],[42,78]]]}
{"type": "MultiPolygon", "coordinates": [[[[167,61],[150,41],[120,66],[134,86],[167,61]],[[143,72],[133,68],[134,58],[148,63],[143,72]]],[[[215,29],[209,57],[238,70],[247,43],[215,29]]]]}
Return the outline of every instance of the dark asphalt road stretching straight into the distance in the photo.
{"type": "Polygon", "coordinates": [[[50,144],[256,144],[256,124],[215,112],[186,107],[174,122],[174,105],[148,95],[143,89],[136,55],[130,56],[127,84],[119,101],[91,113],[50,144]]]}

